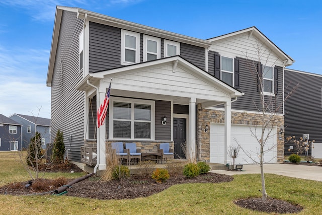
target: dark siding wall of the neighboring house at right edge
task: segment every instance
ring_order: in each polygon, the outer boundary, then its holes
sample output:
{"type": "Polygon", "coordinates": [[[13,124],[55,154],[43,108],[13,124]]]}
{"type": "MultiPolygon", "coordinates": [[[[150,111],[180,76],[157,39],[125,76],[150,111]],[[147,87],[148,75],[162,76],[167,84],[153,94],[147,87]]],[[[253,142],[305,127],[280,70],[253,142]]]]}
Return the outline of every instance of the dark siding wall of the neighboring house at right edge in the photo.
{"type": "MultiPolygon", "coordinates": [[[[299,84],[285,101],[284,137],[309,134],[310,140],[322,142],[322,76],[285,69],[285,96],[299,84]]],[[[289,146],[285,141],[285,154],[289,146]]],[[[295,147],[294,147],[295,149],[295,147]]],[[[310,152],[309,152],[310,153],[310,152]]]]}

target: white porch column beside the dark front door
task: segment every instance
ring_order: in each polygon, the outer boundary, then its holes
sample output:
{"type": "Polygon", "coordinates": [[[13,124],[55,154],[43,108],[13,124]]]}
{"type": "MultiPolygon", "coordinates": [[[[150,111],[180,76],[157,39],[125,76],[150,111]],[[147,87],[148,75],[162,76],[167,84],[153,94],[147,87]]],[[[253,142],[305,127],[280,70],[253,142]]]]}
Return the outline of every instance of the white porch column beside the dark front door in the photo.
{"type": "Polygon", "coordinates": [[[196,98],[189,99],[189,138],[187,145],[187,158],[196,160],[196,98]]]}

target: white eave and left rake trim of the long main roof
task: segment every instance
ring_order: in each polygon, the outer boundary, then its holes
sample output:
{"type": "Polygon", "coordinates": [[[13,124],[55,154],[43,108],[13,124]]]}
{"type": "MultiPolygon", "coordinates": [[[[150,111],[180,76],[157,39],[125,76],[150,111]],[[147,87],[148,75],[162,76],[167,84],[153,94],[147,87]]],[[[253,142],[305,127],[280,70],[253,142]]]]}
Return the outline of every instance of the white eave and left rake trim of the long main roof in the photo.
{"type": "Polygon", "coordinates": [[[160,38],[165,38],[169,40],[174,40],[177,42],[183,42],[191,45],[196,45],[204,48],[210,47],[212,44],[209,41],[197,39],[194,37],[185,36],[182,34],[177,34],[165,30],[160,30],[157,28],[152,28],[145,25],[140,25],[137,23],[109,17],[103,14],[98,14],[95,12],[87,11],[81,8],[70,8],[70,7],[61,7],[57,6],[56,8],[56,15],[55,15],[55,23],[54,23],[54,30],[53,30],[53,36],[52,36],[52,42],[51,42],[51,51],[50,51],[50,57],[49,57],[49,65],[48,65],[48,73],[47,73],[47,86],[51,86],[51,80],[53,75],[53,69],[54,69],[54,63],[55,63],[55,57],[56,57],[56,51],[57,51],[57,44],[58,44],[58,37],[59,37],[59,31],[60,31],[60,23],[62,18],[62,12],[63,11],[69,11],[77,13],[77,18],[84,19],[91,22],[96,22],[104,25],[114,26],[121,29],[126,29],[130,31],[135,31],[151,36],[156,36],[160,38]]]}

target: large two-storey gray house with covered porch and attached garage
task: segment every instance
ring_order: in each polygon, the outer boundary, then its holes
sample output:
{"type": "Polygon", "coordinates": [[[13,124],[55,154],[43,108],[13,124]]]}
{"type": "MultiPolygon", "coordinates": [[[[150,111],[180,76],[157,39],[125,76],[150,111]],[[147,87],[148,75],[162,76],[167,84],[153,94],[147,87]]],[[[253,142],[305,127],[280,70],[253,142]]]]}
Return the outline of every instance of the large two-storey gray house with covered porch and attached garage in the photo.
{"type": "MultiPolygon", "coordinates": [[[[230,163],[234,139],[246,150],[259,147],[250,128],[261,124],[261,92],[281,104],[284,67],[293,61],[256,27],[202,40],[58,6],[47,74],[52,131],[64,132],[74,162],[81,162],[81,147],[94,142],[99,170],[112,141],[136,142],[143,152],[170,142],[178,158],[185,157],[186,142],[189,157],[230,163]],[[264,89],[250,65],[267,71],[264,89]],[[96,110],[111,79],[106,123],[97,128],[96,110]]],[[[266,162],[284,161],[283,125],[281,108],[268,143],[277,148],[266,162]]],[[[244,154],[236,162],[244,159],[251,162],[244,154]]]]}

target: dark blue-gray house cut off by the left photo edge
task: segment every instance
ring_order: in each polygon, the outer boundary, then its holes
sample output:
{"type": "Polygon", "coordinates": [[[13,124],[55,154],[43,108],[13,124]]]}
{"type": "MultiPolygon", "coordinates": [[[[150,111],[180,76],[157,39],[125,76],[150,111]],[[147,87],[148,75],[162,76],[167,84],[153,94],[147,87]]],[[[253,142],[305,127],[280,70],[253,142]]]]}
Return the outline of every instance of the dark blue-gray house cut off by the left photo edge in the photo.
{"type": "Polygon", "coordinates": [[[0,151],[20,151],[22,125],[0,114],[0,151]]]}

